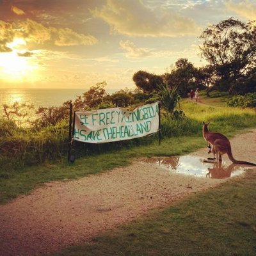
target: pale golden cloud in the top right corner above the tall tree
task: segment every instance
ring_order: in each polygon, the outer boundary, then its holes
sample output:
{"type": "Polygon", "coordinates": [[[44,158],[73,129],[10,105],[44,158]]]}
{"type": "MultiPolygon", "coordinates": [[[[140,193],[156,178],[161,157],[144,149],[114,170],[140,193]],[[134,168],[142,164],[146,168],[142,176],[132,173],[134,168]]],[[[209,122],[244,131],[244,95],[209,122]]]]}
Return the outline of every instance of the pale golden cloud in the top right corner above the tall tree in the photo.
{"type": "Polygon", "coordinates": [[[256,19],[256,3],[252,1],[244,0],[235,3],[234,1],[227,1],[225,3],[228,10],[236,12],[237,14],[245,17],[249,20],[256,19]]]}

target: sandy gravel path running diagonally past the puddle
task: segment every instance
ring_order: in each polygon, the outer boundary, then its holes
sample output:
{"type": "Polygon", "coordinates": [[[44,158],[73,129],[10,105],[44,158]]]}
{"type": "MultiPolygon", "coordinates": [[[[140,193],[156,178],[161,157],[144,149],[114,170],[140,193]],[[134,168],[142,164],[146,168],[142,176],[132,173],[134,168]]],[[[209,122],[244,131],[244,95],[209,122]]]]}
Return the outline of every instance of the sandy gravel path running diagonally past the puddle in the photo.
{"type": "MultiPolygon", "coordinates": [[[[255,142],[256,129],[236,136],[234,157],[256,163],[255,142]]],[[[209,157],[207,148],[193,155],[209,157]]],[[[180,175],[138,159],[100,175],[51,182],[0,205],[0,255],[40,255],[90,241],[102,230],[226,180],[180,175]]]]}

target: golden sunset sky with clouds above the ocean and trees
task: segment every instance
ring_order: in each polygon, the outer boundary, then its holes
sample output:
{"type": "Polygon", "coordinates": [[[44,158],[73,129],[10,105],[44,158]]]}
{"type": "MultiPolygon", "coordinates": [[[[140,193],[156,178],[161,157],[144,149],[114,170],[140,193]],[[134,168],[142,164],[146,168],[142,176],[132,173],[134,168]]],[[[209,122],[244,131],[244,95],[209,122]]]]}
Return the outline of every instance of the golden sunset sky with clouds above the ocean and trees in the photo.
{"type": "Polygon", "coordinates": [[[255,0],[0,0],[0,88],[132,88],[138,70],[205,64],[210,24],[256,19],[255,0]]]}

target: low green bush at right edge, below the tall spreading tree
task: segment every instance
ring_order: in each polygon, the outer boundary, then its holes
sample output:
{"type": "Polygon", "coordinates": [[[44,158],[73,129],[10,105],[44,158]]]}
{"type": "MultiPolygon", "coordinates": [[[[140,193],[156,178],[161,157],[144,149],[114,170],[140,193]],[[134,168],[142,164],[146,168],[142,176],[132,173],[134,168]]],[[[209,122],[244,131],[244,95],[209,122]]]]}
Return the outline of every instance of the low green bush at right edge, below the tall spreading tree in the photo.
{"type": "Polygon", "coordinates": [[[256,108],[256,93],[233,96],[227,100],[227,105],[240,108],[256,108]]]}

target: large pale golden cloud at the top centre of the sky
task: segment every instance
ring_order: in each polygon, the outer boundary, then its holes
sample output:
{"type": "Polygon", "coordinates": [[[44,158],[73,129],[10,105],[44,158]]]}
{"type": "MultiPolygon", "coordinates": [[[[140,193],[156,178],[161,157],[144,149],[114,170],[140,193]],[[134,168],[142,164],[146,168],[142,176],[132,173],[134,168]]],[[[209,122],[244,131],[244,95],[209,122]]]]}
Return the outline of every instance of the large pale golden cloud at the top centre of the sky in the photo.
{"type": "Polygon", "coordinates": [[[113,33],[129,36],[195,35],[195,21],[170,10],[152,10],[141,0],[107,0],[101,10],[91,11],[111,26],[113,33]]]}

